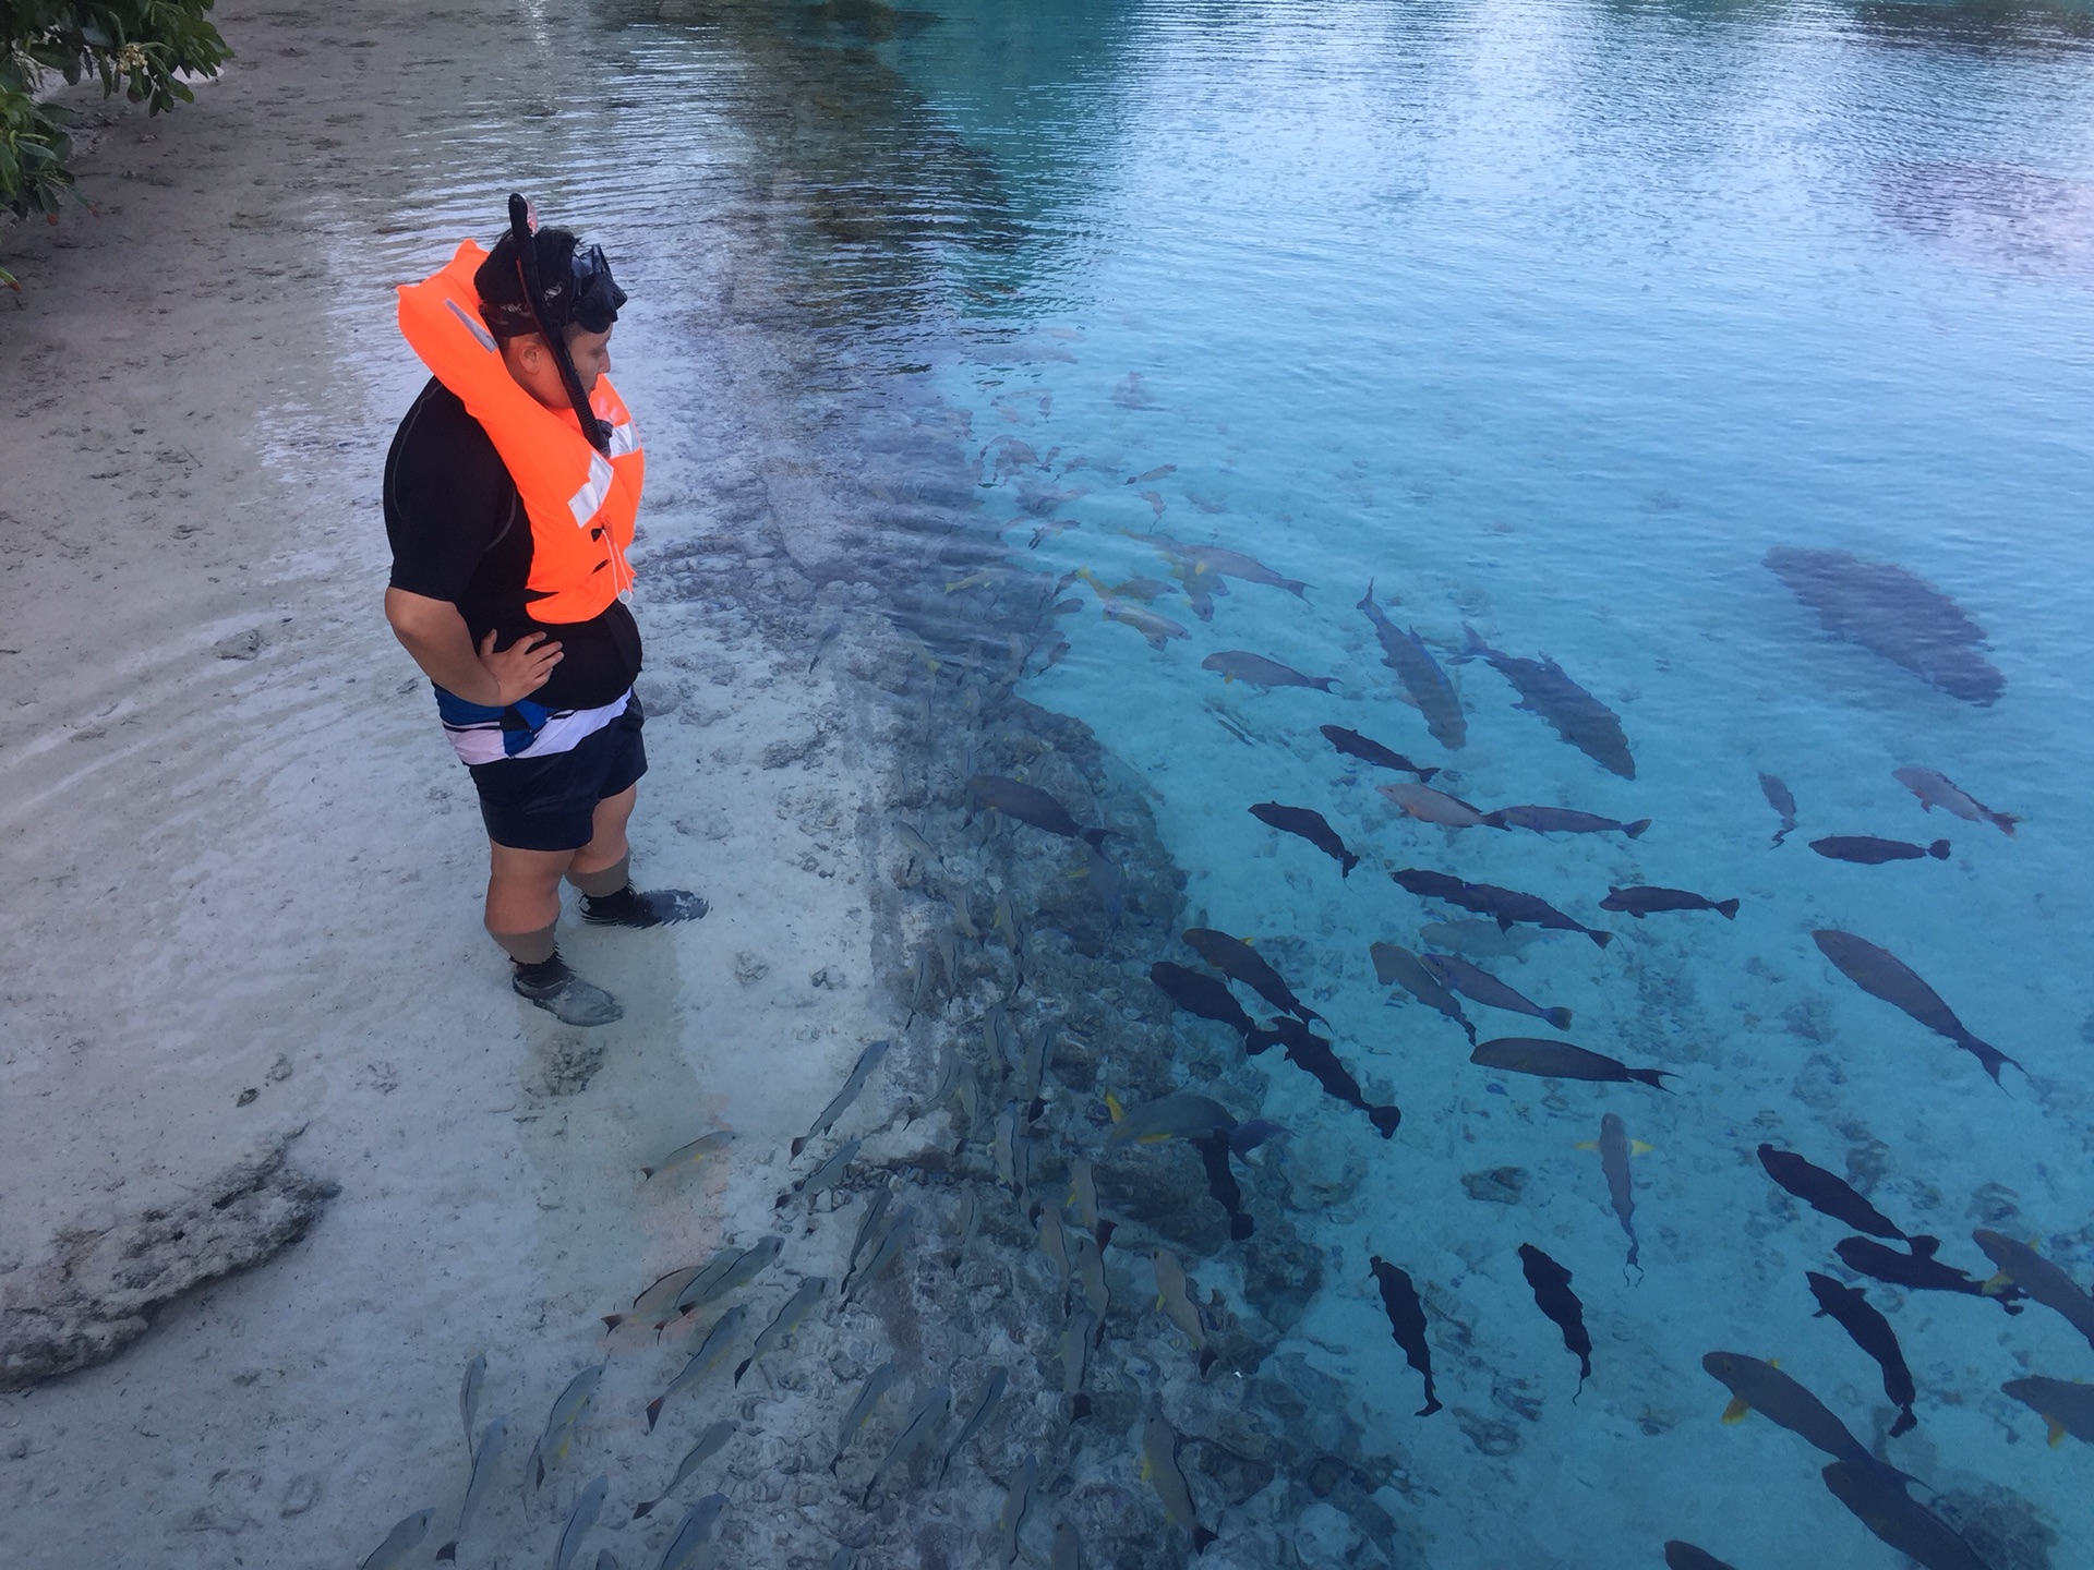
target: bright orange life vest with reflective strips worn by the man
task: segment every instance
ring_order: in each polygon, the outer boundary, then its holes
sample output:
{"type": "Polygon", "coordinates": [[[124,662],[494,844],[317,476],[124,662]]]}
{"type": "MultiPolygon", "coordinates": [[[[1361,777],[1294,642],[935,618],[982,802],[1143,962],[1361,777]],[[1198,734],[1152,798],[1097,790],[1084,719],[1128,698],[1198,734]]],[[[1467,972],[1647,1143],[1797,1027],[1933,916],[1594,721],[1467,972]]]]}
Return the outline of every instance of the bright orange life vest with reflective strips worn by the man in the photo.
{"type": "Polygon", "coordinates": [[[572,408],[547,408],[517,385],[480,320],[473,272],[484,260],[486,251],[465,241],[442,272],[402,285],[400,331],[480,421],[515,479],[530,519],[532,620],[586,622],[632,586],[626,546],[647,467],[641,440],[609,377],[599,377],[588,396],[597,419],[611,427],[609,456],[582,435],[572,408]]]}

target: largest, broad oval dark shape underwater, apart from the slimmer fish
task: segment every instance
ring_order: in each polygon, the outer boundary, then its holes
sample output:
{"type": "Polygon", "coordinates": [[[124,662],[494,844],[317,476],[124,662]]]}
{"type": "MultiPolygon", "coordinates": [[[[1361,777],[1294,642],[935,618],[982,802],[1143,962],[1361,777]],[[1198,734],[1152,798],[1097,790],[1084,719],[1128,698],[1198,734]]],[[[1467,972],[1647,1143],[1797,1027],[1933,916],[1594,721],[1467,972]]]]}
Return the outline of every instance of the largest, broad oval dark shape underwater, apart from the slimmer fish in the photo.
{"type": "Polygon", "coordinates": [[[1950,697],[1987,705],[2006,678],[1979,653],[1985,630],[1903,567],[1862,561],[1845,551],[1776,546],[1767,567],[1818,611],[1826,632],[1903,666],[1950,697]]]}

